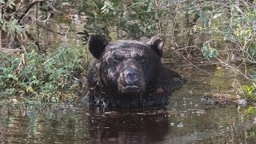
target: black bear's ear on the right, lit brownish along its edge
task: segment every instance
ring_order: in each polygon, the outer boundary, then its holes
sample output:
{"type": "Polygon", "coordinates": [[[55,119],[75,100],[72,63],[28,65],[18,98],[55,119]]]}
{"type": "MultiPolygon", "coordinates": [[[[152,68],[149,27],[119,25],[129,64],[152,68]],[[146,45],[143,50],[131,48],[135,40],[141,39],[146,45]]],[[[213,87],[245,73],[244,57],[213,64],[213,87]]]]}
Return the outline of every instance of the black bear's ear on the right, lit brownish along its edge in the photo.
{"type": "Polygon", "coordinates": [[[150,48],[154,50],[159,55],[159,57],[162,58],[163,42],[161,38],[153,37],[150,39],[150,42],[146,42],[146,44],[149,45],[150,48]]]}

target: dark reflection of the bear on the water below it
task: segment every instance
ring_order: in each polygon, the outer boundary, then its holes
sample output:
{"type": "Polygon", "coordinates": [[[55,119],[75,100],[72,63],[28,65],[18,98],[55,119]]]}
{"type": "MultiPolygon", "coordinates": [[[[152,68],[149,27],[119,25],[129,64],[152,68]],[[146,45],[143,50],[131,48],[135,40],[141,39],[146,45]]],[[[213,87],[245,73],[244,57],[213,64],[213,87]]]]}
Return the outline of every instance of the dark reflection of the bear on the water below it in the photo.
{"type": "Polygon", "coordinates": [[[91,111],[90,140],[93,142],[162,142],[168,130],[168,114],[162,110],[91,111]]]}

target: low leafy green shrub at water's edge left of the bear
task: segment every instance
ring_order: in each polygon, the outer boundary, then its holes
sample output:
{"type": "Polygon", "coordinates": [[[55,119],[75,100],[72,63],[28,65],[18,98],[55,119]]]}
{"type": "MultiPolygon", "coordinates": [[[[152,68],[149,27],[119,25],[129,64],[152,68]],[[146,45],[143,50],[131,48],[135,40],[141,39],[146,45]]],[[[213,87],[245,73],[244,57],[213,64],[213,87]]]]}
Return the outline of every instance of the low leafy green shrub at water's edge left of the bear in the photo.
{"type": "Polygon", "coordinates": [[[32,50],[24,58],[0,53],[2,95],[26,94],[47,101],[54,96],[59,100],[64,94],[76,92],[78,77],[86,74],[88,66],[83,47],[59,46],[47,56],[32,50]]]}

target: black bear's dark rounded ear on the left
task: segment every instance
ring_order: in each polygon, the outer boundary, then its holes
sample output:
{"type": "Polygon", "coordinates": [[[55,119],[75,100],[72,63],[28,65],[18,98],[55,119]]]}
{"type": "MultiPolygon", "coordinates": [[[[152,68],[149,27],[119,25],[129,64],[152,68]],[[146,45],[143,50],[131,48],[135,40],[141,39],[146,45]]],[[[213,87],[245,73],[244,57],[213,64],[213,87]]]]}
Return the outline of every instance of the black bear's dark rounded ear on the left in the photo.
{"type": "Polygon", "coordinates": [[[99,34],[91,35],[89,38],[89,51],[94,58],[101,58],[102,53],[104,52],[108,41],[106,38],[99,34]]]}

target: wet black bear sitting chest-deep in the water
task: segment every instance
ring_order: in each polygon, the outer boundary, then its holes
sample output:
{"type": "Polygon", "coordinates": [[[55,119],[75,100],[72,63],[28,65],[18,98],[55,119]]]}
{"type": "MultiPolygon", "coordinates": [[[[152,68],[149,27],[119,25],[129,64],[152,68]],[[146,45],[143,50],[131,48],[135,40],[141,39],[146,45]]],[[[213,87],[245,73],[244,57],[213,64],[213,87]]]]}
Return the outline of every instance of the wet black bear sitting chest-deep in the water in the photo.
{"type": "Polygon", "coordinates": [[[166,106],[170,92],[182,87],[182,77],[162,65],[163,42],[130,40],[108,42],[90,36],[89,50],[96,58],[87,82],[90,106],[166,106]]]}

